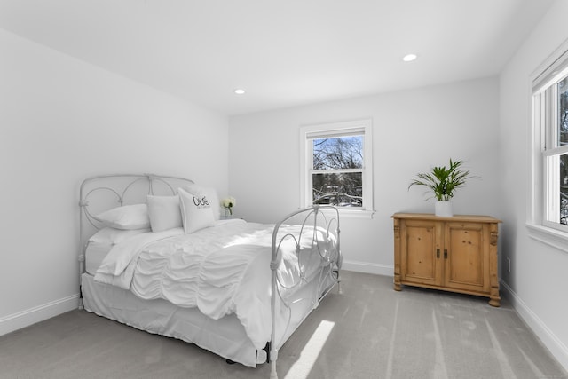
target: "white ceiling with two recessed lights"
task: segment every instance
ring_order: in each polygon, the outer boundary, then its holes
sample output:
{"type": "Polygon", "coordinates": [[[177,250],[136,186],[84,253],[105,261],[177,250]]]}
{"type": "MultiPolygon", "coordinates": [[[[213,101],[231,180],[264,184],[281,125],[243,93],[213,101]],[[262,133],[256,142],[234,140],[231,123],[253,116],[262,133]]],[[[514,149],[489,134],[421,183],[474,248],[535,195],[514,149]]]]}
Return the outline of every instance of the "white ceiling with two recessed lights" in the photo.
{"type": "Polygon", "coordinates": [[[497,75],[552,2],[0,0],[0,28],[234,115],[497,75]]]}

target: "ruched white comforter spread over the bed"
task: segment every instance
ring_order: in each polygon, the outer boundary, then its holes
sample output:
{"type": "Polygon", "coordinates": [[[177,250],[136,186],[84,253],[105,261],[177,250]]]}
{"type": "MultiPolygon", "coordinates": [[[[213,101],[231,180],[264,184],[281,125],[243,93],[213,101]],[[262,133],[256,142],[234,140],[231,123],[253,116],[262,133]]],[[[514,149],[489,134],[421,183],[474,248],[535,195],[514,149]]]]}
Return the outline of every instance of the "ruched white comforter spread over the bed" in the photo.
{"type": "MultiPolygon", "coordinates": [[[[142,233],[114,246],[99,267],[95,280],[130,289],[144,299],[163,298],[182,307],[198,307],[213,319],[234,312],[257,349],[270,340],[273,225],[242,220],[219,221],[216,226],[185,234],[181,228],[142,233]]],[[[300,233],[296,225],[286,233],[300,233]]],[[[335,237],[319,233],[319,249],[312,249],[312,228],[304,228],[301,250],[287,238],[280,246],[278,269],[284,296],[297,283],[311,280],[319,267],[328,265],[335,237]],[[323,257],[321,257],[323,256],[323,257]],[[286,289],[288,288],[288,289],[286,289]]]]}

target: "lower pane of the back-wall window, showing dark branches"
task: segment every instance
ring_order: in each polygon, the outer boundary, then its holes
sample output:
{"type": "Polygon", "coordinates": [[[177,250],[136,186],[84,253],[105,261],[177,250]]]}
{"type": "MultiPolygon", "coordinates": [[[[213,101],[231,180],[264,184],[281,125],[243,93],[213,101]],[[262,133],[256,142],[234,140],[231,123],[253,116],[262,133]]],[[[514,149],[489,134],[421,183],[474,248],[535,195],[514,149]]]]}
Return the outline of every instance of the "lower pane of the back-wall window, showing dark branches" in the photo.
{"type": "Polygon", "coordinates": [[[361,172],[312,174],[312,201],[337,207],[363,206],[361,172]]]}

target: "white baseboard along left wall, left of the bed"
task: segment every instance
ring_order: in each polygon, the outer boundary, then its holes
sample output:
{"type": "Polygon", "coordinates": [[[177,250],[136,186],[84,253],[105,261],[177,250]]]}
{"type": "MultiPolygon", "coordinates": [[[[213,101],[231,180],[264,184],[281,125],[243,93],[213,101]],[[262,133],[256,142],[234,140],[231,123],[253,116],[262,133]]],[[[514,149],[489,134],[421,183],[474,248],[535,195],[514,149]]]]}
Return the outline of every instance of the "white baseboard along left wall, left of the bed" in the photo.
{"type": "Polygon", "coordinates": [[[50,303],[30,308],[26,311],[11,314],[0,319],[0,336],[36,322],[51,319],[61,313],[73,311],[79,307],[79,294],[67,296],[50,303]]]}

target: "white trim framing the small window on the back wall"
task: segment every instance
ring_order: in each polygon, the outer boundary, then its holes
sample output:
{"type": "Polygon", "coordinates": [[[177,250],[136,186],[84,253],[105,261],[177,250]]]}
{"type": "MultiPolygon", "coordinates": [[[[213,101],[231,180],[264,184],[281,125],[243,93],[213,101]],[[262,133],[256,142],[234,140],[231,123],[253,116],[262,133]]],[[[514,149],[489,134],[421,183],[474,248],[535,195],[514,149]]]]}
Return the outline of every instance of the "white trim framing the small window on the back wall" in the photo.
{"type": "Polygon", "coordinates": [[[347,122],[330,122],[321,123],[316,125],[304,125],[300,127],[300,208],[305,208],[310,205],[309,199],[312,199],[312,193],[307,184],[310,180],[308,176],[312,174],[307,170],[308,162],[312,161],[312,157],[308,156],[308,149],[306,143],[308,136],[315,133],[348,133],[350,130],[364,130],[365,144],[363,147],[364,156],[364,171],[363,183],[365,185],[364,195],[366,204],[365,209],[344,209],[340,208],[342,216],[344,217],[368,217],[372,218],[375,214],[373,202],[373,122],[371,119],[353,120],[347,122]]]}

